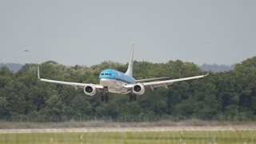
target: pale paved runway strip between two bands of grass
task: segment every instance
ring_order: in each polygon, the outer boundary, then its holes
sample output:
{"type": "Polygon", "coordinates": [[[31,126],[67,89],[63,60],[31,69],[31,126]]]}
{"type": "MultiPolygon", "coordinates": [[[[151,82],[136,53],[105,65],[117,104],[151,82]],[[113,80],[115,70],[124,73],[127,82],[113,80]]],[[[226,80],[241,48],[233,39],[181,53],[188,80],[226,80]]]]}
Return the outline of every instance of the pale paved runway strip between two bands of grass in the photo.
{"type": "Polygon", "coordinates": [[[12,133],[89,133],[89,132],[129,132],[129,131],[184,131],[184,130],[256,130],[256,126],[154,126],[154,127],[86,127],[58,129],[8,129],[0,134],[12,133]]]}

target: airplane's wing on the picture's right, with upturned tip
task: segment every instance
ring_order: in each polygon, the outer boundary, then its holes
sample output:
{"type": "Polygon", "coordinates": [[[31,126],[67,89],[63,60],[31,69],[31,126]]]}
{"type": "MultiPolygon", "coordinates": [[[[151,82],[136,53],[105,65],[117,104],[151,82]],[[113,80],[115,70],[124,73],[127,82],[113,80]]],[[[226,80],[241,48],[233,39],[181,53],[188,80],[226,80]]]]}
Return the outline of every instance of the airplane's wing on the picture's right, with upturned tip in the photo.
{"type": "MultiPolygon", "coordinates": [[[[187,81],[191,79],[198,79],[198,78],[204,78],[209,74],[209,72],[205,75],[198,75],[194,77],[187,77],[187,78],[178,78],[178,79],[170,79],[170,80],[164,80],[164,81],[156,81],[156,82],[141,82],[143,86],[151,88],[151,90],[154,90],[155,87],[166,87],[168,88],[169,85],[173,84],[174,82],[182,82],[187,81]]],[[[135,86],[136,84],[128,84],[124,87],[131,88],[135,86]]]]}

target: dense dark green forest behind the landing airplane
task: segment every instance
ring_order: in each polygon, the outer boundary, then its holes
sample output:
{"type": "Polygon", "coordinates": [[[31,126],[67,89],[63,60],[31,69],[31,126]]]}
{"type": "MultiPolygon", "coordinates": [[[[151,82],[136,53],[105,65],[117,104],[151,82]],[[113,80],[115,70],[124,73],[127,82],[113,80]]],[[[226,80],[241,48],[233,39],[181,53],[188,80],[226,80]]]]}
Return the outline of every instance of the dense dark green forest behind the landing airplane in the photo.
{"type": "MultiPolygon", "coordinates": [[[[0,119],[14,117],[158,117],[177,118],[252,118],[256,116],[256,57],[248,58],[226,72],[210,72],[206,78],[176,82],[169,89],[158,88],[130,102],[127,95],[110,94],[101,102],[99,94],[86,96],[82,89],[40,82],[50,78],[67,82],[98,83],[101,70],[122,72],[128,64],[102,62],[94,66],[64,66],[48,61],[26,64],[17,73],[0,68],[0,119]]],[[[134,62],[134,78],[184,78],[206,74],[193,62],[134,62]]]]}

